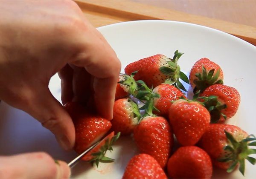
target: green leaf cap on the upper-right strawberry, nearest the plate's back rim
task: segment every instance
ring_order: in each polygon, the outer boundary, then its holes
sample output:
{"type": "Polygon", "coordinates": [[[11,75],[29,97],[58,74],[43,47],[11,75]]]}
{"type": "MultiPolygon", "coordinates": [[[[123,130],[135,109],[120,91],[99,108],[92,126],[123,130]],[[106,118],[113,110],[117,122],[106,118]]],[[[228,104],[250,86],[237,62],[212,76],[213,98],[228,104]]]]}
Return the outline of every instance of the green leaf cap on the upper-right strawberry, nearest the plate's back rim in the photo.
{"type": "Polygon", "coordinates": [[[213,75],[215,69],[211,69],[208,73],[204,66],[202,66],[202,72],[196,73],[195,76],[197,79],[195,79],[193,82],[195,84],[194,93],[200,91],[203,92],[207,87],[213,85],[213,84],[223,84],[223,80],[218,80],[218,77],[220,75],[220,69],[217,70],[215,75],[213,75]],[[218,80],[218,81],[217,81],[218,80]]]}

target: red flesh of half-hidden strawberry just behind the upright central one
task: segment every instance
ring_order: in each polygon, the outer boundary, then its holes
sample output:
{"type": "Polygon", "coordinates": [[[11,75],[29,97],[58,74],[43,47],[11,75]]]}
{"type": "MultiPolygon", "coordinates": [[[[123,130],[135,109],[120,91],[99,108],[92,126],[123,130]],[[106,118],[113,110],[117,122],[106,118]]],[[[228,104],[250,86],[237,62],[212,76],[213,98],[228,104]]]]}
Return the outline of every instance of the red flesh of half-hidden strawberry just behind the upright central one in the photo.
{"type": "Polygon", "coordinates": [[[155,111],[155,114],[159,116],[168,116],[169,108],[172,105],[171,101],[175,101],[181,96],[186,98],[180,90],[170,84],[160,84],[154,88],[153,92],[160,95],[160,98],[154,98],[154,107],[160,111],[155,111]]]}

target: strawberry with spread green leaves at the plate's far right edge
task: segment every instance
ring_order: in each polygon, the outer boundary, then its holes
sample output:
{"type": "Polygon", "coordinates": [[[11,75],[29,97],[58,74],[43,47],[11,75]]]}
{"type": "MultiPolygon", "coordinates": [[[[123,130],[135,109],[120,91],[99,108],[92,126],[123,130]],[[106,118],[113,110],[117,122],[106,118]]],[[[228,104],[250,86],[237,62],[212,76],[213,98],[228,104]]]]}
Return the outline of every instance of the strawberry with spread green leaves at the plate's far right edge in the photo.
{"type": "Polygon", "coordinates": [[[210,124],[198,145],[212,158],[212,163],[227,172],[233,171],[240,164],[239,170],[244,175],[244,159],[253,165],[256,160],[248,155],[256,153],[256,138],[241,128],[229,124],[210,124]]]}

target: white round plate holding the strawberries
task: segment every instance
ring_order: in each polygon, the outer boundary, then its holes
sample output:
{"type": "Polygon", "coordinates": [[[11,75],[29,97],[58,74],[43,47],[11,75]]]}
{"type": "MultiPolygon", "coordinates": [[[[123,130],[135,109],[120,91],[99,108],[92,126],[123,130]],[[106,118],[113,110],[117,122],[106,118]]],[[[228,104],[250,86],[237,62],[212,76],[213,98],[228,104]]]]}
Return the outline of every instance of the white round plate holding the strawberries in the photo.
{"type": "MultiPolygon", "coordinates": [[[[173,56],[176,49],[185,54],[179,64],[189,72],[200,58],[207,57],[221,66],[224,83],[235,87],[241,94],[238,113],[229,120],[248,133],[255,133],[256,47],[239,38],[195,24],[162,20],[144,20],[117,23],[98,28],[122,62],[122,71],[130,62],[155,54],[173,56]]],[[[60,80],[55,75],[49,84],[53,95],[60,100],[60,80]]],[[[69,162],[76,154],[64,152],[54,136],[26,113],[0,104],[0,154],[9,155],[30,151],[46,151],[56,159],[69,162]]],[[[80,162],[72,170],[72,177],[120,179],[129,159],[137,153],[134,142],[126,137],[108,153],[115,163],[102,164],[99,168],[80,162]]],[[[239,171],[227,174],[214,170],[214,178],[243,178],[239,171]]],[[[255,178],[256,167],[246,163],[245,178],[255,178]]]]}

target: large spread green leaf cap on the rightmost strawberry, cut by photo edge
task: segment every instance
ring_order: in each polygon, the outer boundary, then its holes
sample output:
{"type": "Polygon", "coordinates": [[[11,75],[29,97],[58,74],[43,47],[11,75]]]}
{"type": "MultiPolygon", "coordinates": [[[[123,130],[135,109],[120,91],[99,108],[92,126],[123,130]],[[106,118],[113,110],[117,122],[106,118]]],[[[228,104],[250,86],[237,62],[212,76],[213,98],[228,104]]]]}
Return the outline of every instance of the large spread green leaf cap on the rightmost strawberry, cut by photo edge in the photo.
{"type": "Polygon", "coordinates": [[[250,157],[251,154],[256,154],[256,149],[249,148],[248,146],[256,146],[256,138],[254,135],[249,135],[241,141],[236,141],[232,134],[224,130],[225,135],[230,141],[230,145],[226,145],[223,149],[228,153],[224,158],[218,159],[219,162],[232,162],[227,172],[232,172],[236,165],[239,164],[239,171],[244,175],[245,159],[252,165],[255,165],[256,159],[250,157]]]}

